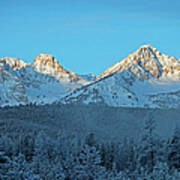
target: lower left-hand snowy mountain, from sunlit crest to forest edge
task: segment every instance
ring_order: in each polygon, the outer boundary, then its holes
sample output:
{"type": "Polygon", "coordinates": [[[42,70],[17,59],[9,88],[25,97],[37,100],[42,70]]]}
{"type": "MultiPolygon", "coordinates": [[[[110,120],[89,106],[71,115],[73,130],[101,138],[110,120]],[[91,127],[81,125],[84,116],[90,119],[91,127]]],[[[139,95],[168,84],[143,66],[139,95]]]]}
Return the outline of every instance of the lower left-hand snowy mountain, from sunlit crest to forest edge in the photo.
{"type": "Polygon", "coordinates": [[[1,106],[52,103],[89,83],[48,54],[40,54],[31,64],[19,58],[0,59],[0,80],[1,106]]]}

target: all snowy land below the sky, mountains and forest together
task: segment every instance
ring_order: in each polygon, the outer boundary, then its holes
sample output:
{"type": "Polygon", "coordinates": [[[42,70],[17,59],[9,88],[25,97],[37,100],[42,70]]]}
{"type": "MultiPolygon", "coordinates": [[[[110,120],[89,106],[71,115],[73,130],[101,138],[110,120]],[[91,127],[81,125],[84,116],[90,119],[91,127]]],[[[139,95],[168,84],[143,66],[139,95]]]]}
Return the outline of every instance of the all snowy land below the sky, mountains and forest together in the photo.
{"type": "Polygon", "coordinates": [[[99,77],[3,58],[0,106],[0,179],[180,179],[180,60],[149,45],[99,77]]]}

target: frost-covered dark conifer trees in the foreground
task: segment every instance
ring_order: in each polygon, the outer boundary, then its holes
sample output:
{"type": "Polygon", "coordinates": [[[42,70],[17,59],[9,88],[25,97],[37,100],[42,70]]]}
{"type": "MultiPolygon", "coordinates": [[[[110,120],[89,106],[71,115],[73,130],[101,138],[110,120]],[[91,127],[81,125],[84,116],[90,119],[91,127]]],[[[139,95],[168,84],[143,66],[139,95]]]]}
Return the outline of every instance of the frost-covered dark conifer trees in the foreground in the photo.
{"type": "Polygon", "coordinates": [[[2,180],[178,180],[180,129],[171,139],[154,134],[150,118],[140,143],[133,139],[100,143],[93,133],[85,138],[61,130],[0,134],[2,180]]]}

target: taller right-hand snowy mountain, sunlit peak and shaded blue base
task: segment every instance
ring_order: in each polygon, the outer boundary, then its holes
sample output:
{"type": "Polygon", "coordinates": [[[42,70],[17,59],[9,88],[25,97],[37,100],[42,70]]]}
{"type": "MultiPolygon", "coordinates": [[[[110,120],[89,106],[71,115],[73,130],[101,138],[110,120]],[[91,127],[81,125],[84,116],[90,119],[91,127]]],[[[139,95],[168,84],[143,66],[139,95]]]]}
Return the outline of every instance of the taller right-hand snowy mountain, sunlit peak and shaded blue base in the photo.
{"type": "Polygon", "coordinates": [[[180,60],[145,45],[62,101],[114,107],[177,108],[180,107],[179,82],[180,60]]]}

